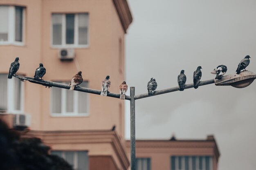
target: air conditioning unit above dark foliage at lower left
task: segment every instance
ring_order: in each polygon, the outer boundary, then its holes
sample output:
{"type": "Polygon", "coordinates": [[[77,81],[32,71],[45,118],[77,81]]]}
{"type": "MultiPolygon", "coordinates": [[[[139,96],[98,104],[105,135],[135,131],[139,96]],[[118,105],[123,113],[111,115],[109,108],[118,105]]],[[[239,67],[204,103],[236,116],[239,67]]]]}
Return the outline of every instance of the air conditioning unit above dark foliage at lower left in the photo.
{"type": "Polygon", "coordinates": [[[13,128],[20,130],[27,128],[31,124],[30,115],[16,114],[13,116],[13,128]]]}

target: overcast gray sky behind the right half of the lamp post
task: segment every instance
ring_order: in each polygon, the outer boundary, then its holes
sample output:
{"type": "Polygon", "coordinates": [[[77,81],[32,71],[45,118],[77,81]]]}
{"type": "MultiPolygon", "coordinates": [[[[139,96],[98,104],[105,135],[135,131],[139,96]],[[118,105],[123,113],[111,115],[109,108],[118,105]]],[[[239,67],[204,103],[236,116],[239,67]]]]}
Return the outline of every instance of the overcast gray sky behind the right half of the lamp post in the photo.
{"type": "MultiPolygon", "coordinates": [[[[212,79],[216,66],[233,74],[245,55],[256,73],[255,0],[128,0],[133,22],[126,35],[126,82],[135,94],[147,93],[151,77],[157,90],[187,84],[202,66],[212,79]]],[[[128,93],[129,94],[129,93],[128,93]]],[[[213,134],[220,150],[219,170],[256,167],[256,82],[247,88],[200,86],[136,101],[136,138],[206,139],[213,134]]],[[[126,138],[130,137],[126,102],[126,138]]]]}

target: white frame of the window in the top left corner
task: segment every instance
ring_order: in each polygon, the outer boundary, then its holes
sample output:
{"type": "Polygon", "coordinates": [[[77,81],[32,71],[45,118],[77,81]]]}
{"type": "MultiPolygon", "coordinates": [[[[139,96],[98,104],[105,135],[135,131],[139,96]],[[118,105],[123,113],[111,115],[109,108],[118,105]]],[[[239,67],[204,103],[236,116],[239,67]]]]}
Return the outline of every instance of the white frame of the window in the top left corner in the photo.
{"type": "Polygon", "coordinates": [[[25,19],[26,19],[26,8],[22,7],[22,41],[15,40],[15,7],[21,6],[13,6],[13,5],[0,5],[8,7],[8,40],[0,41],[0,46],[2,45],[15,45],[15,46],[25,46],[25,19]],[[11,29],[10,29],[11,28],[11,29]]]}

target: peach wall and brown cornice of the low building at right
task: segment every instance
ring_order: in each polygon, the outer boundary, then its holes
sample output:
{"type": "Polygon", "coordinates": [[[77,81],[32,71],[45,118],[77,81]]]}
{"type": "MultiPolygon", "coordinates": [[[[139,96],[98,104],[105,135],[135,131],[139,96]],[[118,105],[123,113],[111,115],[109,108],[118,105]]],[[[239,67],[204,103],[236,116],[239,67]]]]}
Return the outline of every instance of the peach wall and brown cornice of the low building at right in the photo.
{"type": "MultiPolygon", "coordinates": [[[[130,141],[126,141],[130,157],[130,141]]],[[[136,141],[136,158],[150,158],[151,170],[170,170],[171,156],[211,156],[213,170],[217,170],[219,151],[216,142],[205,141],[136,141]]]]}

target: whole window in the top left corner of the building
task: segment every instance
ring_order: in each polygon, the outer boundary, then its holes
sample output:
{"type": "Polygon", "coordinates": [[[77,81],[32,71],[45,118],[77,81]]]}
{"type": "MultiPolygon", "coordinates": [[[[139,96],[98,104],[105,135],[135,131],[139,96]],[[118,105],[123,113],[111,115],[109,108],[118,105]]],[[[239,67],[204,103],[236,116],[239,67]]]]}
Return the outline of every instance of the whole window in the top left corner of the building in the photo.
{"type": "Polygon", "coordinates": [[[0,45],[23,45],[25,8],[0,6],[0,45]]]}

